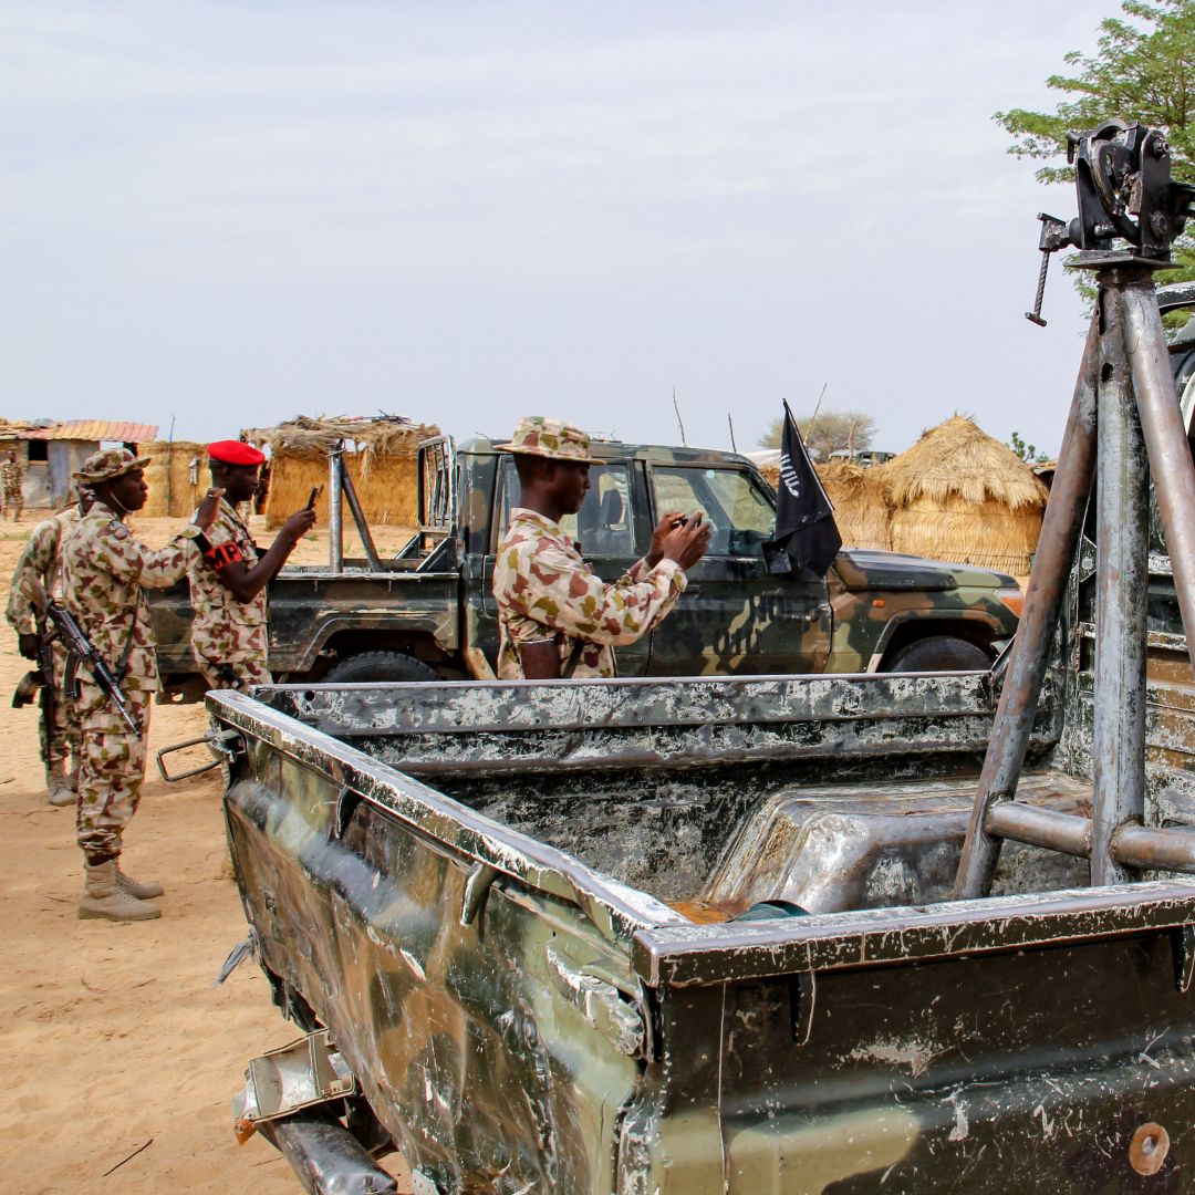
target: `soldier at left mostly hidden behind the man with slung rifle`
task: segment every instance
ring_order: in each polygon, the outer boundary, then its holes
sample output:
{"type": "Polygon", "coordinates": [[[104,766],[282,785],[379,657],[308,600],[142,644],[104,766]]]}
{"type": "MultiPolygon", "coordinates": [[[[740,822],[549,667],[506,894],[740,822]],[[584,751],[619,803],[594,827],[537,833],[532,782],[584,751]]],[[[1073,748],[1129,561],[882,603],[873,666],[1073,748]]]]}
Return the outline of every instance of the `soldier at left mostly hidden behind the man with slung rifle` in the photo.
{"type": "MultiPolygon", "coordinates": [[[[17,560],[12,584],[8,587],[5,618],[17,632],[20,654],[26,660],[36,660],[38,648],[32,592],[35,587],[31,582],[37,581],[48,594],[61,600],[62,545],[79,520],[91,509],[91,490],[80,485],[79,502],[39,522],[17,560]]],[[[79,772],[79,719],[74,700],[62,684],[67,662],[66,648],[55,638],[50,644],[50,651],[54,657],[54,675],[47,680],[55,691],[54,700],[49,705],[50,725],[45,724],[47,706],[44,704],[42,706],[42,762],[45,765],[45,788],[51,805],[73,805],[79,772]]]]}

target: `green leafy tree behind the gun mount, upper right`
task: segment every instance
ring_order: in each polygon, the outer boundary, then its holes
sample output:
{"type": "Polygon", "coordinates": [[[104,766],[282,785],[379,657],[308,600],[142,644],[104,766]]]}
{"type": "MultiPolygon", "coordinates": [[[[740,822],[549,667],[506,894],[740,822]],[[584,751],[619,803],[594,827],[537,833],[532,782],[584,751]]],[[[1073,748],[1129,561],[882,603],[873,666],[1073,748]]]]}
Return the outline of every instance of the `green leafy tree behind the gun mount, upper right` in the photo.
{"type": "MultiPolygon", "coordinates": [[[[1068,131],[1087,131],[1116,117],[1163,129],[1173,177],[1195,182],[1195,0],[1123,0],[1121,11],[1132,20],[1102,20],[1096,53],[1072,50],[1062,59],[1067,72],[1046,80],[1067,97],[1053,112],[1013,108],[994,116],[1012,134],[1009,153],[1044,163],[1062,159],[1038,168],[1042,183],[1074,178],[1065,164],[1068,131]]],[[[1165,281],[1195,278],[1195,238],[1175,243],[1175,261],[1182,268],[1168,270],[1165,281]]]]}

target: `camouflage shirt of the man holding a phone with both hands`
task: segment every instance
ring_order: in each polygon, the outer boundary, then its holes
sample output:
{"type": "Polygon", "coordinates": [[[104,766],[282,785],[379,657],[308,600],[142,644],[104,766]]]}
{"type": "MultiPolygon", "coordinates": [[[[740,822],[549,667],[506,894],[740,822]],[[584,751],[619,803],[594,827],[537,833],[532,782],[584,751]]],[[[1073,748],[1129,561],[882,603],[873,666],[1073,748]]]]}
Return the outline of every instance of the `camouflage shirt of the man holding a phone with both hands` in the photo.
{"type": "Polygon", "coordinates": [[[673,608],[685,584],[675,560],[655,568],[638,560],[607,584],[557,523],[516,507],[494,568],[502,632],[498,678],[520,680],[520,644],[553,635],[562,675],[576,651],[571,675],[613,676],[613,649],[646,635],[673,608]]]}

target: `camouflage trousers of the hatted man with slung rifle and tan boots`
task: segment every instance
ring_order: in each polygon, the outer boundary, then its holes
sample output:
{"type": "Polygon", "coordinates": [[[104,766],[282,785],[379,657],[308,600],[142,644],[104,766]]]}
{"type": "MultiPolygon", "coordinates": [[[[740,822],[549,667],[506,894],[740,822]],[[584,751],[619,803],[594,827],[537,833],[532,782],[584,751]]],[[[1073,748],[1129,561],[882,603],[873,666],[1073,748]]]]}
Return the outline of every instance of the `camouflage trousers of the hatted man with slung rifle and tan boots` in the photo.
{"type": "Polygon", "coordinates": [[[140,735],[129,730],[93,684],[80,682],[82,764],[76,829],[79,846],[93,866],[120,856],[121,838],[141,803],[153,693],[125,690],[124,695],[141,727],[140,735]]]}

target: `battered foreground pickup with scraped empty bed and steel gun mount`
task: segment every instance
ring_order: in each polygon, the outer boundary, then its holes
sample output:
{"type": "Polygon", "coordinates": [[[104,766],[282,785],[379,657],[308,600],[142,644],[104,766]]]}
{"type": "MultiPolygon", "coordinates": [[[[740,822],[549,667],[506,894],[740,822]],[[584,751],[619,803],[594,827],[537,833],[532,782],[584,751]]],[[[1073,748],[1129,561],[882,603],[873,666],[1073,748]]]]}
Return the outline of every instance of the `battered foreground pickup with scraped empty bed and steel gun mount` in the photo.
{"type": "Polygon", "coordinates": [[[304,1032],[243,1139],[315,1193],[394,1146],[419,1195],[1193,1188],[1191,387],[1140,134],[1073,147],[1117,222],[1070,233],[1097,315],[1003,666],[209,694],[304,1032]]]}

